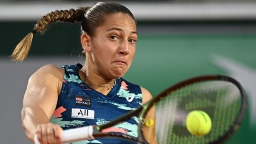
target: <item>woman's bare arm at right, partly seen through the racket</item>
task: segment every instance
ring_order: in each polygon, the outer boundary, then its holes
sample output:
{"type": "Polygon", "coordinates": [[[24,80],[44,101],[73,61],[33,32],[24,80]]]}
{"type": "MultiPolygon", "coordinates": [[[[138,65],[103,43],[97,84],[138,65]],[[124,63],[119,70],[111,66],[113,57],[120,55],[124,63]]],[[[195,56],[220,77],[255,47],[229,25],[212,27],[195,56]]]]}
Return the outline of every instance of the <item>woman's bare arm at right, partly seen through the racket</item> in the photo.
{"type": "MultiPolygon", "coordinates": [[[[142,95],[143,95],[142,103],[145,104],[149,100],[151,100],[152,95],[147,89],[142,88],[142,87],[140,87],[140,88],[142,89],[142,95]]],[[[148,120],[148,119],[152,119],[153,121],[155,121],[155,107],[151,108],[151,110],[148,112],[148,114],[146,116],[146,120],[148,120]]],[[[156,135],[155,135],[155,123],[152,126],[148,126],[148,127],[145,126],[143,128],[143,135],[149,143],[152,143],[152,144],[158,143],[156,140],[156,135]]]]}

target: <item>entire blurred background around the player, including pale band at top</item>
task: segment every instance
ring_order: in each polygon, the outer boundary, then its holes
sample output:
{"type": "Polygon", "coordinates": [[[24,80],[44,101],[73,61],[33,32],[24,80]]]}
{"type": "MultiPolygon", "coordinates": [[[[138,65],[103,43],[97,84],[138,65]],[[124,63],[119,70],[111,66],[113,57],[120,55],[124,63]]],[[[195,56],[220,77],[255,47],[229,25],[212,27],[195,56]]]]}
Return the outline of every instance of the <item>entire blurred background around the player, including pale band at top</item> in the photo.
{"type": "MultiPolygon", "coordinates": [[[[137,19],[137,53],[126,79],[153,95],[192,76],[223,74],[245,87],[248,112],[241,129],[226,143],[255,143],[256,1],[114,1],[137,19]]],[[[79,23],[52,24],[34,37],[24,62],[11,62],[16,44],[41,15],[94,1],[0,0],[0,143],[30,143],[21,125],[29,76],[41,66],[83,63],[79,23]]],[[[107,55],[107,54],[106,54],[107,55]]]]}

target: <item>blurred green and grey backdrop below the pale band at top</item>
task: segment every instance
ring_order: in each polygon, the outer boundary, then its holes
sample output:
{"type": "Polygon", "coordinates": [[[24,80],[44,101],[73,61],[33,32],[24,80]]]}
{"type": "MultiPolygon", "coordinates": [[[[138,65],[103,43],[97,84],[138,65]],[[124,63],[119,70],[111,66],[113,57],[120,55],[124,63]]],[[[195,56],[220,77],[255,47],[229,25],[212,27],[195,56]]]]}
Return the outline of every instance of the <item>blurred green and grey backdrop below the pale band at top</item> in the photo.
{"type": "MultiPolygon", "coordinates": [[[[28,59],[9,55],[36,21],[0,21],[0,143],[27,143],[20,121],[27,79],[46,63],[82,63],[80,26],[52,24],[34,37],[28,59]],[[15,137],[7,139],[6,137],[15,137]]],[[[138,20],[139,40],[133,65],[124,78],[158,94],[184,79],[223,74],[238,79],[248,94],[248,111],[241,129],[226,143],[255,143],[256,23],[255,20],[138,20]]]]}

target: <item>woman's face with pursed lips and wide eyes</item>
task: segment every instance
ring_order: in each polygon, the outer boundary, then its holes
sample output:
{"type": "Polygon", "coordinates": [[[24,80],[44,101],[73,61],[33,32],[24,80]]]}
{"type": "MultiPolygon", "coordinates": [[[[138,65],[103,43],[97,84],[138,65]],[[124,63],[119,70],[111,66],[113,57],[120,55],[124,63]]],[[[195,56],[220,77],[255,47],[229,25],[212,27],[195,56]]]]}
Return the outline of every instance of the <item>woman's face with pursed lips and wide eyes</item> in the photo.
{"type": "Polygon", "coordinates": [[[136,52],[135,21],[117,13],[105,19],[90,37],[87,58],[89,69],[105,78],[120,78],[132,65],[136,52]]]}

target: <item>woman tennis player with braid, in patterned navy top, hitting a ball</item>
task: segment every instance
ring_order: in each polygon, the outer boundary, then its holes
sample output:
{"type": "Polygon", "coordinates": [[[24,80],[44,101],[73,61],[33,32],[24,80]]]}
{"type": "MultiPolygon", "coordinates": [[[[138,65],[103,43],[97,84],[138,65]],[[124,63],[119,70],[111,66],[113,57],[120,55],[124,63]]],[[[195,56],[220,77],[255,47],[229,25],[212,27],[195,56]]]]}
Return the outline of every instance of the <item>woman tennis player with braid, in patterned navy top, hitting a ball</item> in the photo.
{"type": "MultiPolygon", "coordinates": [[[[107,123],[152,98],[147,89],[122,78],[133,62],[138,35],[133,14],[120,4],[98,2],[44,15],[16,47],[14,60],[24,60],[33,35],[55,21],[81,21],[85,62],[62,68],[45,65],[31,75],[21,111],[24,131],[31,142],[37,135],[40,143],[61,143],[65,129],[107,123]]],[[[154,111],[151,117],[155,119],[154,111]]],[[[137,137],[137,121],[133,117],[105,132],[137,137]]],[[[152,139],[155,133],[145,135],[152,139]]],[[[100,138],[83,143],[132,142],[100,138]]]]}

